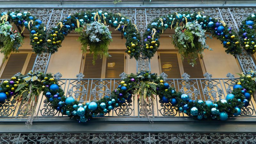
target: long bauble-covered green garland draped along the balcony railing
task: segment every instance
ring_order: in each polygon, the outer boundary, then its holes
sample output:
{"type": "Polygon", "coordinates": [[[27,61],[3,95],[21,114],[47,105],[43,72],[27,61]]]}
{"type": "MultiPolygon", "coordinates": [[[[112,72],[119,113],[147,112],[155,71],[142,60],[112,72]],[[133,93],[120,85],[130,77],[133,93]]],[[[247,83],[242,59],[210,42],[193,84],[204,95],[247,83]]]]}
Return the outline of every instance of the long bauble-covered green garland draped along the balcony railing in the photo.
{"type": "Polygon", "coordinates": [[[20,100],[30,104],[26,109],[29,112],[35,108],[37,96],[43,92],[54,109],[79,122],[86,122],[92,117],[104,116],[112,109],[121,106],[126,100],[131,100],[136,92],[140,100],[145,102],[154,101],[153,94],[156,94],[161,103],[171,103],[180,112],[196,119],[226,120],[228,117],[240,115],[241,108],[249,105],[252,94],[255,92],[255,76],[254,71],[242,73],[240,80],[233,86],[233,92],[229,93],[226,99],[196,101],[191,100],[187,94],[176,92],[173,87],[164,82],[162,77],[151,74],[149,71],[141,71],[124,78],[110,96],[82,104],[73,97],[64,96],[64,91],[51,74],[29,72],[26,76],[13,76],[10,80],[5,80],[0,85],[0,101],[4,104],[11,97],[20,96],[20,100]]]}

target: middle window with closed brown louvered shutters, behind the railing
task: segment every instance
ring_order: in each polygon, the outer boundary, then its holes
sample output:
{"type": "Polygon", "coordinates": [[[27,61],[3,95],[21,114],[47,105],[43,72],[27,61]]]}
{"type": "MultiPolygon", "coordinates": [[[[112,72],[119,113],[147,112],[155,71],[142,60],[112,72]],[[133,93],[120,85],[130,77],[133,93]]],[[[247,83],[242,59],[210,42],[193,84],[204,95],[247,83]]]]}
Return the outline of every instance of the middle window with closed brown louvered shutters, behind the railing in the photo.
{"type": "MultiPolygon", "coordinates": [[[[86,53],[84,54],[82,73],[84,78],[89,78],[93,80],[86,81],[87,96],[84,96],[85,102],[88,102],[93,99],[92,89],[97,83],[97,78],[120,78],[120,74],[126,71],[126,54],[124,52],[109,52],[111,57],[103,57],[102,59],[98,56],[95,60],[95,65],[92,64],[93,55],[86,53]],[[87,88],[88,86],[88,88],[87,88]]],[[[85,82],[82,82],[84,84],[85,82]]],[[[110,84],[108,88],[110,89],[110,84]]],[[[111,85],[113,87],[113,84],[111,85]]],[[[96,88],[96,91],[99,91],[99,88],[96,88]]],[[[104,91],[104,90],[103,90],[104,91]]],[[[96,94],[97,95],[97,94],[96,94]]]]}

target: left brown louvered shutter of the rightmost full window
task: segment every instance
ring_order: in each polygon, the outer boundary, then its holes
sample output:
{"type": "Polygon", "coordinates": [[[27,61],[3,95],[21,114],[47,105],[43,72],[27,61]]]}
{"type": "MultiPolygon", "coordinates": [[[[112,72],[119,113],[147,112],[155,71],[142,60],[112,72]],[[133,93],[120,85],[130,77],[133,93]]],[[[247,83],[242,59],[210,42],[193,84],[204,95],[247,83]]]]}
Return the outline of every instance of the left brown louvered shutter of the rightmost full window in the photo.
{"type": "Polygon", "coordinates": [[[180,66],[177,53],[159,53],[161,73],[164,72],[168,78],[181,78],[180,66]]]}

